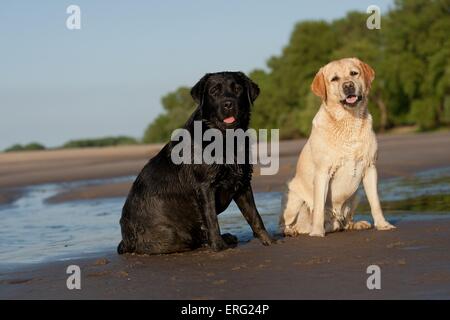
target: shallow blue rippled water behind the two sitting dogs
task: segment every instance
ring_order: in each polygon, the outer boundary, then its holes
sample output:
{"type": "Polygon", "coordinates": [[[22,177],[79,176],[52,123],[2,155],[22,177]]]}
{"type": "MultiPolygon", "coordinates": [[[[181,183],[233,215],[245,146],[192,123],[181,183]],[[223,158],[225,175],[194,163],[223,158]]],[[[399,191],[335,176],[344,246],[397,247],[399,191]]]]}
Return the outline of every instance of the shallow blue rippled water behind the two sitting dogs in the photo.
{"type": "MultiPolygon", "coordinates": [[[[33,186],[14,203],[0,206],[0,268],[114,251],[120,241],[119,219],[124,198],[61,204],[48,204],[45,199],[75,186],[132,179],[33,186]]],[[[450,214],[450,167],[421,172],[411,178],[384,180],[379,189],[385,215],[394,223],[450,214]]],[[[356,219],[364,216],[370,220],[370,209],[362,190],[359,192],[363,201],[356,219]]],[[[279,192],[255,194],[259,212],[271,233],[277,232],[281,198],[279,192]]],[[[250,227],[234,203],[219,216],[219,222],[223,233],[233,233],[240,241],[252,238],[250,227]]]]}

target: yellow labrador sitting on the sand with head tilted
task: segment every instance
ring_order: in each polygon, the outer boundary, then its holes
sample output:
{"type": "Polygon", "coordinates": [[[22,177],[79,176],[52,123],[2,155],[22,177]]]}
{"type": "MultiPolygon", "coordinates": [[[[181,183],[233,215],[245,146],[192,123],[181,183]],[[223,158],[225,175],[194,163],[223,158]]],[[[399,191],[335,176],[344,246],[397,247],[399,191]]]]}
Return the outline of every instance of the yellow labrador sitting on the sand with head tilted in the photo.
{"type": "Polygon", "coordinates": [[[322,98],[311,136],[303,148],[280,218],[285,235],[369,229],[353,222],[361,183],[378,230],[395,228],[383,216],[377,191],[377,141],[367,96],[375,72],[356,58],[322,67],[311,85],[322,98]]]}

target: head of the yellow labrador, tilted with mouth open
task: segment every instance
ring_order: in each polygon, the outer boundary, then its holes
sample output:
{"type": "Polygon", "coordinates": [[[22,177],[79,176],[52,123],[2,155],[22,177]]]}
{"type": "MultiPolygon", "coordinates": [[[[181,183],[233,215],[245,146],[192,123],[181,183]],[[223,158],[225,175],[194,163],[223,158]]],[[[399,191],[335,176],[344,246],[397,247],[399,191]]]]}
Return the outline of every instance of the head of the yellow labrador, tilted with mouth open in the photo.
{"type": "Polygon", "coordinates": [[[366,100],[375,71],[357,58],[335,60],[320,68],[311,90],[327,104],[354,109],[366,100]]]}

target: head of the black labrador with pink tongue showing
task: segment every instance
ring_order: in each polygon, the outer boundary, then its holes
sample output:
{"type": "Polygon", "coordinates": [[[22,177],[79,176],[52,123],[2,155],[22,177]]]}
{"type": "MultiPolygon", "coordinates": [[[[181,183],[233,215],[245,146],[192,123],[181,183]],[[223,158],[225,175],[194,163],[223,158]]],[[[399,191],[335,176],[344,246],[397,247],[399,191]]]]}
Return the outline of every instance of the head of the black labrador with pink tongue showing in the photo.
{"type": "Polygon", "coordinates": [[[246,129],[259,87],[242,72],[207,73],[192,88],[191,95],[210,126],[246,129]]]}

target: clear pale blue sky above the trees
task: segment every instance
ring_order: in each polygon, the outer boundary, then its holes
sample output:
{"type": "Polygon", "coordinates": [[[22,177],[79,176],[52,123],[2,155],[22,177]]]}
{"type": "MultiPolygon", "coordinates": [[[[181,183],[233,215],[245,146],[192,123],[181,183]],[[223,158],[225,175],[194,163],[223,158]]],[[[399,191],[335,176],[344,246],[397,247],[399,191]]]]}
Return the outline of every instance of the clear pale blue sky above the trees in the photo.
{"type": "Polygon", "coordinates": [[[206,72],[264,68],[296,22],[391,0],[0,2],[0,149],[141,137],[161,96],[206,72]],[[65,26],[70,4],[82,29],[65,26]]]}

